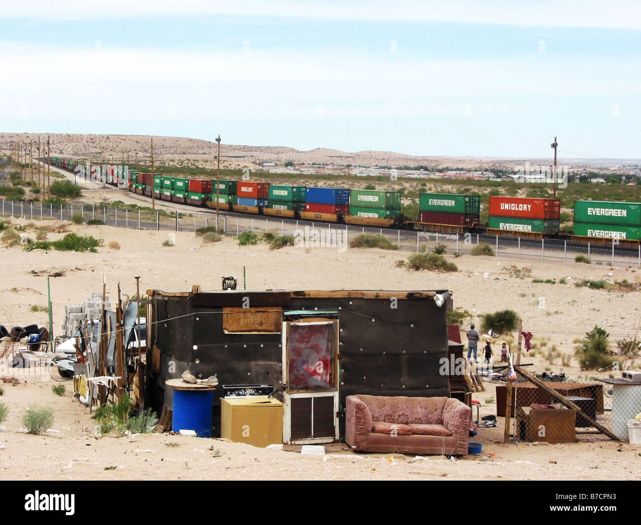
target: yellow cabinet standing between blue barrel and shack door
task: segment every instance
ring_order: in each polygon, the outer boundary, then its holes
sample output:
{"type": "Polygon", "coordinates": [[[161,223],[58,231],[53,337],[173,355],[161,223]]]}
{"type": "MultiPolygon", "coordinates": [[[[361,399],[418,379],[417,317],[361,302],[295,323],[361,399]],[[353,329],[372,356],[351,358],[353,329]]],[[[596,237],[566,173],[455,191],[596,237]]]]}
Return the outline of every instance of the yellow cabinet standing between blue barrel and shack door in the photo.
{"type": "Polygon", "coordinates": [[[221,399],[221,437],[254,447],[283,442],[283,403],[267,396],[221,399]]]}

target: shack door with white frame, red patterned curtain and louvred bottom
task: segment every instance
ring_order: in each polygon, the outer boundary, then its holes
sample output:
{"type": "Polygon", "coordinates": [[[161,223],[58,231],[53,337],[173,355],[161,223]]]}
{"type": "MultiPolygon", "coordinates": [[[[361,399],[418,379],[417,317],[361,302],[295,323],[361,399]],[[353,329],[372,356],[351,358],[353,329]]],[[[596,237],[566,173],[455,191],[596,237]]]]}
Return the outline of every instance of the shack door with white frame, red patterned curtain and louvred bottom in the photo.
{"type": "Polygon", "coordinates": [[[338,440],[338,385],[338,319],[312,317],[285,321],[285,443],[309,444],[338,440]]]}

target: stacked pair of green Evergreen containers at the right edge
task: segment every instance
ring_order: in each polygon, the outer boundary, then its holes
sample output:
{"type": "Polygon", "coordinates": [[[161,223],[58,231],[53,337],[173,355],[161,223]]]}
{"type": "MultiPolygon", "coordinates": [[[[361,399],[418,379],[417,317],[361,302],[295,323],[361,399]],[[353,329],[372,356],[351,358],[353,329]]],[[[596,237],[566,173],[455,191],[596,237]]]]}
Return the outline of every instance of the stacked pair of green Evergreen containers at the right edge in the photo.
{"type": "Polygon", "coordinates": [[[574,235],[612,239],[641,238],[641,204],[607,201],[574,203],[574,235]]]}

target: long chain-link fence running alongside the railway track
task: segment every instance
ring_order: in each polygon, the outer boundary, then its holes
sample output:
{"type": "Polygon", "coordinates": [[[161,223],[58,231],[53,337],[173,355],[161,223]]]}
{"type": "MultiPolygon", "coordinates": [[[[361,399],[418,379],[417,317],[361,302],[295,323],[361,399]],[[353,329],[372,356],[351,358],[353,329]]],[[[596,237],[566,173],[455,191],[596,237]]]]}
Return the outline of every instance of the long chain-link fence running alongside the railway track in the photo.
{"type": "Polygon", "coordinates": [[[387,238],[399,251],[434,251],[442,245],[445,255],[470,254],[474,247],[487,243],[494,256],[508,260],[574,262],[576,256],[588,257],[597,265],[641,266],[641,246],[631,249],[619,246],[592,246],[576,244],[559,239],[528,239],[520,237],[501,237],[480,233],[428,233],[405,229],[369,228],[328,222],[297,221],[278,219],[264,215],[240,215],[223,212],[218,217],[208,208],[187,206],[174,210],[156,210],[139,206],[112,207],[92,206],[89,204],[51,204],[2,200],[2,217],[19,217],[25,220],[72,221],[81,217],[82,222],[102,221],[109,226],[134,229],[156,229],[163,231],[196,231],[198,228],[214,226],[228,235],[239,235],[245,231],[265,233],[271,231],[279,235],[304,235],[312,237],[315,246],[347,246],[349,240],[360,233],[378,234],[387,238]]]}

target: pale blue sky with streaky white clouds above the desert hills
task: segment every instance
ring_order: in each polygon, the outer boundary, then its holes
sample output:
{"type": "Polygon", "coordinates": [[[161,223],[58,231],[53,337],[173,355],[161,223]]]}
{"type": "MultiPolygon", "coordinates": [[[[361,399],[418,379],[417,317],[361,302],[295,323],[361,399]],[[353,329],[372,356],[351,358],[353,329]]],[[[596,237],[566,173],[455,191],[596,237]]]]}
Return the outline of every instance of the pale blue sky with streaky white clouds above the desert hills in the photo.
{"type": "Polygon", "coordinates": [[[635,1],[31,0],[0,131],[641,158],[640,52],[635,1]]]}

